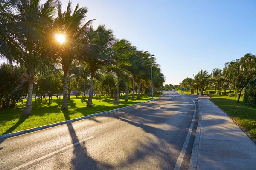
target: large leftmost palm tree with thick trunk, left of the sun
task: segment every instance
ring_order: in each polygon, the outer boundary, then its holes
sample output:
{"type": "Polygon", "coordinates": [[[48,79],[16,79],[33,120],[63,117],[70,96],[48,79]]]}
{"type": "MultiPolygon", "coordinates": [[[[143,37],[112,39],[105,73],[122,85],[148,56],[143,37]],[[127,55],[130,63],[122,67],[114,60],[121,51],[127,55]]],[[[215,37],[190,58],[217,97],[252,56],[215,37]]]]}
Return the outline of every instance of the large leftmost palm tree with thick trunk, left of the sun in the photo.
{"type": "Polygon", "coordinates": [[[55,0],[47,0],[43,5],[38,0],[1,1],[1,11],[8,18],[1,22],[1,56],[23,65],[26,68],[28,82],[28,97],[26,107],[22,115],[30,115],[32,111],[32,93],[34,76],[38,68],[48,65],[55,70],[51,54],[49,52],[49,38],[47,32],[52,28],[53,15],[56,9],[55,0]],[[15,13],[11,8],[15,5],[15,13]],[[3,24],[4,23],[4,24],[3,24]],[[4,31],[9,33],[3,35],[4,31]],[[10,34],[12,34],[10,36],[10,34]],[[7,40],[7,41],[6,41],[7,40]]]}

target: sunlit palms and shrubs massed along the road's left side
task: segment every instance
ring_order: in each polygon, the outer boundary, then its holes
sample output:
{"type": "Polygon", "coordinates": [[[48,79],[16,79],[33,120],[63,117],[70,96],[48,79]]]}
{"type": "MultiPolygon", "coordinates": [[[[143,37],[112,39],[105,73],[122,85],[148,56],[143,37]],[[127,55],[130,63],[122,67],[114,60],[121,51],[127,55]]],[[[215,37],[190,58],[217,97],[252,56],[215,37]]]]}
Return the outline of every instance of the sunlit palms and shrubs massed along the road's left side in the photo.
{"type": "Polygon", "coordinates": [[[0,110],[23,99],[26,106],[19,112],[36,114],[32,99],[37,105],[45,96],[60,99],[61,110],[72,110],[72,91],[77,99],[82,95],[89,111],[98,107],[95,94],[107,101],[108,95],[124,93],[125,102],[135,101],[151,93],[151,67],[153,93],[163,87],[154,55],[117,38],[105,25],[93,27],[95,19],[87,19],[87,12],[79,4],[72,8],[71,1],[63,10],[58,0],[0,0],[0,58],[8,61],[0,65],[0,110]]]}

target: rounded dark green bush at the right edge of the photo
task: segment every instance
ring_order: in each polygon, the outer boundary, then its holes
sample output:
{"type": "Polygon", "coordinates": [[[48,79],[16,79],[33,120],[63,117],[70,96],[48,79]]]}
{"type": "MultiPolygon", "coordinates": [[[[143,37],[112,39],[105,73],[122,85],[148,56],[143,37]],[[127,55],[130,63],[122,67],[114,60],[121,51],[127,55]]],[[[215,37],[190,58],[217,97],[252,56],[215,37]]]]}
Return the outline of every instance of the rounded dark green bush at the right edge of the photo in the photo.
{"type": "Polygon", "coordinates": [[[250,80],[244,88],[244,103],[247,105],[256,105],[256,78],[250,80]]]}

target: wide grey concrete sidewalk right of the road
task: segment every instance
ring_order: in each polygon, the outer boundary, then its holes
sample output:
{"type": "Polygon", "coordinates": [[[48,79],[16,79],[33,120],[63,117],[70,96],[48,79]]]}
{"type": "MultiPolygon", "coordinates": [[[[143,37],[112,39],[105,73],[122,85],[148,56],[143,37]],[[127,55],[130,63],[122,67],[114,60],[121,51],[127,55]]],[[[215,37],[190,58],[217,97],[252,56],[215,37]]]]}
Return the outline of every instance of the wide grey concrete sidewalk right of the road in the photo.
{"type": "Polygon", "coordinates": [[[256,144],[209,99],[198,106],[189,170],[256,170],[256,144]]]}

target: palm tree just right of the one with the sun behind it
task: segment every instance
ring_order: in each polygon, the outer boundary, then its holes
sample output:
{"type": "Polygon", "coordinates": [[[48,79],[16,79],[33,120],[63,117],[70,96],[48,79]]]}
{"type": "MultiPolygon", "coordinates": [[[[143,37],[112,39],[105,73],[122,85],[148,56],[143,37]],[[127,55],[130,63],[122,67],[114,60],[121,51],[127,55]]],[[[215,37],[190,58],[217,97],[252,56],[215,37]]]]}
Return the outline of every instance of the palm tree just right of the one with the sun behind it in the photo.
{"type": "Polygon", "coordinates": [[[90,71],[90,91],[87,107],[92,106],[93,78],[97,71],[106,71],[120,64],[120,58],[111,55],[111,46],[115,42],[113,31],[105,25],[99,25],[96,30],[91,27],[85,32],[84,41],[88,43],[80,58],[90,71]]]}

